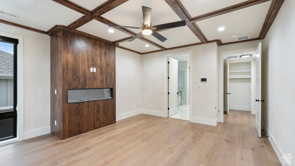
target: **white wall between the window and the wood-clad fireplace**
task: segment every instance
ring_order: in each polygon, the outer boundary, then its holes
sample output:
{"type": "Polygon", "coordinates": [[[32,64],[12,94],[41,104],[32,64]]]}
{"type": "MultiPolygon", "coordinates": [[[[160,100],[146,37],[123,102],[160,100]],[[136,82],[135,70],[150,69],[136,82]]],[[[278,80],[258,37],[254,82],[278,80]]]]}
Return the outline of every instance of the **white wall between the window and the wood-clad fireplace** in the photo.
{"type": "Polygon", "coordinates": [[[50,133],[50,37],[0,23],[24,38],[24,139],[50,133]]]}

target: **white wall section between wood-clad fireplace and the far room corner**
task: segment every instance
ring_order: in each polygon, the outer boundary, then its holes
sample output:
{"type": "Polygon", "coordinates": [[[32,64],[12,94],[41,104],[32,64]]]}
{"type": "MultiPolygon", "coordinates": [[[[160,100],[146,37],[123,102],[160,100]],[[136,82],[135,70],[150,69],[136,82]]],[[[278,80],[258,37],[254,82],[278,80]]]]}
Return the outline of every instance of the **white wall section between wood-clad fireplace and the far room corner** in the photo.
{"type": "Polygon", "coordinates": [[[141,113],[141,57],[140,54],[116,48],[116,121],[141,113]]]}

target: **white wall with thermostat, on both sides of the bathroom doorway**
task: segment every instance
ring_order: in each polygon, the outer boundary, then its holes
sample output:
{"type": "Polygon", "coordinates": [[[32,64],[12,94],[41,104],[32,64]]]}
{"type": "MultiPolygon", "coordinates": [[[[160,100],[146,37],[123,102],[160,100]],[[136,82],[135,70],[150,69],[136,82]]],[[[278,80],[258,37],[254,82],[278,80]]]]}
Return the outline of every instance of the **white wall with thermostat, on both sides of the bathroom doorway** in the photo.
{"type": "Polygon", "coordinates": [[[165,115],[165,54],[192,51],[192,90],[193,99],[191,121],[216,125],[217,113],[215,107],[217,95],[217,51],[216,43],[197,45],[176,50],[162,51],[142,55],[142,109],[165,115]],[[200,78],[207,78],[207,83],[200,83],[200,78]],[[148,105],[151,105],[149,108],[148,105]],[[197,110],[200,113],[197,114],[197,110]]]}

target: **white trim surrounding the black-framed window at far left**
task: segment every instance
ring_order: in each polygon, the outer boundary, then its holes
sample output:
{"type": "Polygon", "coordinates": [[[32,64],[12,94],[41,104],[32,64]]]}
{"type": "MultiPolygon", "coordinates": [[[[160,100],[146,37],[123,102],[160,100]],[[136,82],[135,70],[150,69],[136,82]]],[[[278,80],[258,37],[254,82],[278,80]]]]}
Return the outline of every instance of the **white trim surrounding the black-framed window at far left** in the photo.
{"type": "Polygon", "coordinates": [[[0,32],[1,36],[19,40],[17,45],[17,137],[0,141],[0,146],[24,140],[24,38],[22,36],[0,32]]]}

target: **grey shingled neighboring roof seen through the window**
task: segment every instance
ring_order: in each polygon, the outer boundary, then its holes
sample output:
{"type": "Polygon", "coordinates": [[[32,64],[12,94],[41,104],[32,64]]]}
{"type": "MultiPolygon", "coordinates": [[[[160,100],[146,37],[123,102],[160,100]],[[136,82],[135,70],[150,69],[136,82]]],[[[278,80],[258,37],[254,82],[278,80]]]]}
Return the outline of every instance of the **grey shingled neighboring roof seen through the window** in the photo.
{"type": "Polygon", "coordinates": [[[0,50],[0,75],[13,76],[13,55],[0,50]]]}

